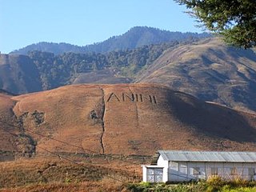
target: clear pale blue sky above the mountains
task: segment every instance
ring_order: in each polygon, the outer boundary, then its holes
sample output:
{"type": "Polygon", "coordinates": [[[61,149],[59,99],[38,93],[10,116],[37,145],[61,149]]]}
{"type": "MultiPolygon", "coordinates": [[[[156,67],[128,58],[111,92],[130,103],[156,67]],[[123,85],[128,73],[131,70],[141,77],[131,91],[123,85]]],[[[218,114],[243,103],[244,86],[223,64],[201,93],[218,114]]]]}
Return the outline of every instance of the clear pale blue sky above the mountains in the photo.
{"type": "Polygon", "coordinates": [[[173,0],[0,0],[0,51],[36,42],[85,46],[133,26],[202,32],[173,0]]]}

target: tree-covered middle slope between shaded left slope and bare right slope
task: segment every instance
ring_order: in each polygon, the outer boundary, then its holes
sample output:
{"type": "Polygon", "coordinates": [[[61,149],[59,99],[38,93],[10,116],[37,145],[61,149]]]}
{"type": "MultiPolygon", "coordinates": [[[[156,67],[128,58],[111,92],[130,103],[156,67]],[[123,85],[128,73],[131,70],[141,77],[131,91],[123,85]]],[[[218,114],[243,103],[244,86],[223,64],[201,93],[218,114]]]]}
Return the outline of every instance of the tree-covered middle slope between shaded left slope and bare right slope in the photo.
{"type": "Polygon", "coordinates": [[[35,50],[28,57],[38,69],[42,90],[49,90],[83,82],[132,82],[138,71],[154,62],[164,50],[175,46],[178,46],[178,42],[111,51],[108,54],[52,54],[35,50]]]}

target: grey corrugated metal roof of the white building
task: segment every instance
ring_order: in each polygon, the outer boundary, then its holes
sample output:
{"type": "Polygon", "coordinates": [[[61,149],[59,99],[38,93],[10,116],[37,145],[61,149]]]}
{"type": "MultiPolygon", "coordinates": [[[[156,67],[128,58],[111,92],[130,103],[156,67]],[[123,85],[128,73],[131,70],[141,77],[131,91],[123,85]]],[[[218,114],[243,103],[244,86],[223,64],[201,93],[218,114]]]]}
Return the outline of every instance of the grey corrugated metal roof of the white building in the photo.
{"type": "Polygon", "coordinates": [[[166,161],[174,162],[256,162],[256,152],[158,150],[166,161]]]}

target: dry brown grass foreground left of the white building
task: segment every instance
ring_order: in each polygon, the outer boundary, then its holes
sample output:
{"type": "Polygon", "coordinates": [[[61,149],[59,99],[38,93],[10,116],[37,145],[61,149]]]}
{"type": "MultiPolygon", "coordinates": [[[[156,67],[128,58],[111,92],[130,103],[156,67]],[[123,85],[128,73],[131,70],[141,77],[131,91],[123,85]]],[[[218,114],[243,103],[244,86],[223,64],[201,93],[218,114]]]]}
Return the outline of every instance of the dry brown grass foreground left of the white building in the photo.
{"type": "Polygon", "coordinates": [[[134,178],[136,169],[141,167],[109,164],[106,159],[77,164],[50,157],[0,162],[0,192],[126,192],[130,190],[125,183],[141,181],[134,178]]]}

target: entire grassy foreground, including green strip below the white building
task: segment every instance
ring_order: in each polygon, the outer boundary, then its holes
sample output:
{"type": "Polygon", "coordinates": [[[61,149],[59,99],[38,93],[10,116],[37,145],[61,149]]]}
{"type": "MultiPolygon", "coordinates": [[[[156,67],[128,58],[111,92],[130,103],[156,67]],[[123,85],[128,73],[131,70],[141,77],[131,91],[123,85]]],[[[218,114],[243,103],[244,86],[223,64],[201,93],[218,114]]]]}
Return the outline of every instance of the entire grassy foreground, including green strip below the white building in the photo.
{"type": "Polygon", "coordinates": [[[242,179],[227,182],[214,177],[182,184],[140,182],[142,171],[137,163],[91,160],[74,163],[48,157],[0,162],[0,192],[256,192],[256,182],[242,179]]]}

